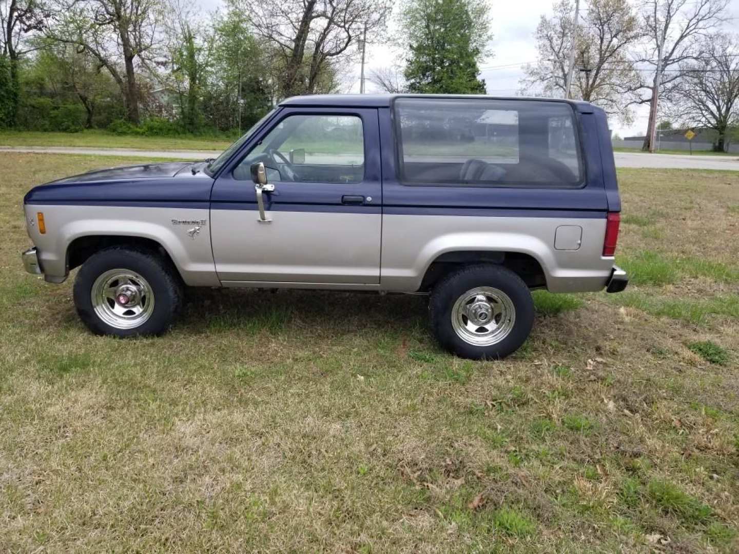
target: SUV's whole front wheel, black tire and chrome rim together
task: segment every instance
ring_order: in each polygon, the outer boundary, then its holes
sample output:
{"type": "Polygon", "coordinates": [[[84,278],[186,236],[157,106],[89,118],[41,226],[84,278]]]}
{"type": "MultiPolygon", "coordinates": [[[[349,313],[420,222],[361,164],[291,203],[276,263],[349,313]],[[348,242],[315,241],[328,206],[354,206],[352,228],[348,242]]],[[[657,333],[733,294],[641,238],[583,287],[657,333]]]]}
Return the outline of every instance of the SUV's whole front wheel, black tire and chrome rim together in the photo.
{"type": "Polygon", "coordinates": [[[182,303],[174,269],[148,250],[111,247],[90,256],[75,280],[75,307],[98,335],[160,335],[182,303]]]}

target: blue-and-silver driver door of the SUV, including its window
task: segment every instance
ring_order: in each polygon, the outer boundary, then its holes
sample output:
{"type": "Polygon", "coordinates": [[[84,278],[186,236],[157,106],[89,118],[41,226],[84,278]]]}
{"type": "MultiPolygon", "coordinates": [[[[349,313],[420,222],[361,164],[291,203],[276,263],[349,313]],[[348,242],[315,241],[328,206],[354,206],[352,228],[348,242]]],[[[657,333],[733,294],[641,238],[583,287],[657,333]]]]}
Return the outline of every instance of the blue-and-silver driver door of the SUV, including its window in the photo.
{"type": "MultiPolygon", "coordinates": [[[[381,173],[376,109],[279,113],[225,168],[211,194],[211,241],[224,284],[380,282],[381,173]],[[252,163],[274,190],[261,220],[252,163]]],[[[271,187],[270,187],[271,188],[271,187]]]]}

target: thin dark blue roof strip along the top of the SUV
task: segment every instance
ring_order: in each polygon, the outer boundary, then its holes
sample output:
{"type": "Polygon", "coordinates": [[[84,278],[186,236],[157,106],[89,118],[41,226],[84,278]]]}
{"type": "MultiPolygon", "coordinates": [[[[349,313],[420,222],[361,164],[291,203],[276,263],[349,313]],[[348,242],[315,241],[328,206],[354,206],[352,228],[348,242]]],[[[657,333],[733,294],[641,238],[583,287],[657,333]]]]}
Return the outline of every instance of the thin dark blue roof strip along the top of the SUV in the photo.
{"type": "Polygon", "coordinates": [[[580,111],[585,106],[592,106],[582,100],[565,100],[563,98],[528,98],[523,96],[489,96],[489,95],[305,95],[291,96],[279,103],[280,106],[321,106],[321,107],[352,107],[352,108],[386,108],[392,105],[397,98],[459,98],[460,100],[547,100],[567,102],[578,107],[580,111]]]}

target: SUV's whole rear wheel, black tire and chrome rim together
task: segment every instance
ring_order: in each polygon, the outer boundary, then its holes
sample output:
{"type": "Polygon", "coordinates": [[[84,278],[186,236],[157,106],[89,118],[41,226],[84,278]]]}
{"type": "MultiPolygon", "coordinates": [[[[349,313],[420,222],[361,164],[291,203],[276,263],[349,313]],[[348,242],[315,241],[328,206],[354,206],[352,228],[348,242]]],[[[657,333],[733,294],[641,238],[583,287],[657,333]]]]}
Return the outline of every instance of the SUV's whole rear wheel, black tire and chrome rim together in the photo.
{"type": "Polygon", "coordinates": [[[505,267],[463,267],[434,287],[429,302],[437,341],[462,358],[505,358],[528,338],[534,301],[505,267]]]}

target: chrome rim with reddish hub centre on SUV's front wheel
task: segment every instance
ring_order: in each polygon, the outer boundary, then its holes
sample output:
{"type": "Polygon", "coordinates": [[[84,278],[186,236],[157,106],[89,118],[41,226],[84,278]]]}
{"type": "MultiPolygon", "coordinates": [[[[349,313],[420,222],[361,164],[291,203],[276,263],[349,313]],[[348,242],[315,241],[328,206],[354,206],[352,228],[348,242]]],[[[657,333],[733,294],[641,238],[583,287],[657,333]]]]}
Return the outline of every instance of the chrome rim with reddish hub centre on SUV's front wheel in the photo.
{"type": "Polygon", "coordinates": [[[131,270],[109,270],[92,284],[92,307],[116,329],[143,325],[154,311],[154,293],[145,278],[131,270]]]}

